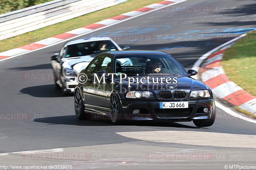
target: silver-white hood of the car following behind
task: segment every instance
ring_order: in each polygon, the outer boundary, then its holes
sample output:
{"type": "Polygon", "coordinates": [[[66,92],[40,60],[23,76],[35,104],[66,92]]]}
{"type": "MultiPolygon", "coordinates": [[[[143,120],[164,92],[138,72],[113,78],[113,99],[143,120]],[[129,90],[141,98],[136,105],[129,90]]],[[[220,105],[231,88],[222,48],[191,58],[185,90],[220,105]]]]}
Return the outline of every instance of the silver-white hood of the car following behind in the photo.
{"type": "Polygon", "coordinates": [[[96,55],[85,55],[62,59],[62,67],[73,69],[78,75],[81,70],[85,69],[96,55]]]}

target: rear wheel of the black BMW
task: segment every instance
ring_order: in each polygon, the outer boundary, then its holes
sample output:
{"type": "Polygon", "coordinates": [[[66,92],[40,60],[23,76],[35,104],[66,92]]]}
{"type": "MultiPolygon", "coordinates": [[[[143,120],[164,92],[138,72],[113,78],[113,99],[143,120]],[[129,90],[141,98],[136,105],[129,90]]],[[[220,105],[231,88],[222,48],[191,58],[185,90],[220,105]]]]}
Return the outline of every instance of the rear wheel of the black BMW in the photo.
{"type": "Polygon", "coordinates": [[[79,120],[86,119],[87,114],[84,112],[84,102],[82,99],[82,95],[77,89],[75,92],[75,113],[76,113],[77,119],[79,120]]]}

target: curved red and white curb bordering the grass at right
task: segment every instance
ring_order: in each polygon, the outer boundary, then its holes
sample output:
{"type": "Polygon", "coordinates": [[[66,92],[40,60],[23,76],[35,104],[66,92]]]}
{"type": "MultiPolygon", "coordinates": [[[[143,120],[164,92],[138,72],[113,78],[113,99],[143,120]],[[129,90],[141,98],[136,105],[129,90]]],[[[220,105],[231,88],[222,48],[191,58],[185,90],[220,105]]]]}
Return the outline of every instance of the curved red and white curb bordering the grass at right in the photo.
{"type": "MultiPolygon", "coordinates": [[[[243,36],[245,34],[239,38],[243,36]]],[[[228,45],[207,55],[199,68],[201,79],[212,89],[213,94],[218,98],[256,115],[256,96],[253,96],[231,81],[221,66],[223,53],[228,47],[233,45],[233,42],[230,41],[228,45]]]]}

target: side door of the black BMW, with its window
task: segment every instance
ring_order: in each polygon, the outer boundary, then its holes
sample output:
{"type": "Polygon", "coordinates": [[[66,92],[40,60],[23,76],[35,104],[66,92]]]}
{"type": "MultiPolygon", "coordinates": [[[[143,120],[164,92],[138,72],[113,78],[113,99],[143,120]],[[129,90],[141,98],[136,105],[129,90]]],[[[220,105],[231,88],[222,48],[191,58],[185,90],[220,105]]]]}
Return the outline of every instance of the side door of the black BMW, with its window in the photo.
{"type": "Polygon", "coordinates": [[[106,114],[108,113],[107,109],[107,83],[110,82],[105,78],[101,78],[100,76],[95,76],[94,73],[98,73],[99,71],[109,72],[111,69],[111,57],[108,54],[102,54],[95,57],[92,62],[87,67],[85,74],[87,76],[86,88],[84,91],[85,99],[85,107],[92,110],[94,113],[98,114],[106,114]],[[98,78],[98,79],[97,79],[98,78]],[[100,80],[100,81],[98,81],[100,80]],[[105,82],[105,83],[104,83],[105,82]]]}

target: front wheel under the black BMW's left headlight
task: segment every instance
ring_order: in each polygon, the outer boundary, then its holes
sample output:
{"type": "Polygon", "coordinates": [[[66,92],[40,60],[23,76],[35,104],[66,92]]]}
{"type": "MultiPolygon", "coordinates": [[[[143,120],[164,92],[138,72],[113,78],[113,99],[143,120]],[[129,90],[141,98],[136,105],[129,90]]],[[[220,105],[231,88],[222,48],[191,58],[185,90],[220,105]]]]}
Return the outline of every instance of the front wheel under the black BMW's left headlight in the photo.
{"type": "Polygon", "coordinates": [[[117,94],[113,94],[110,97],[109,104],[110,120],[114,125],[120,125],[122,123],[120,115],[123,114],[122,104],[117,94]]]}

